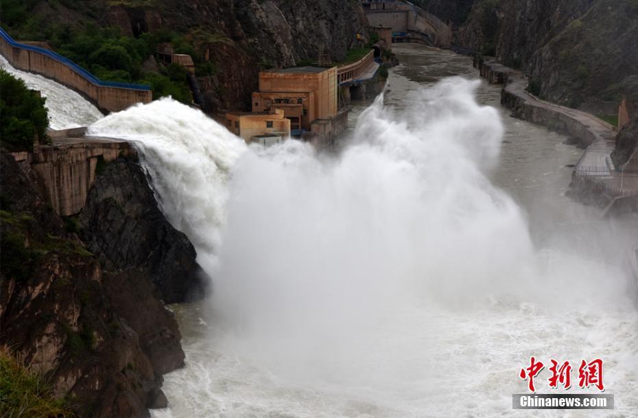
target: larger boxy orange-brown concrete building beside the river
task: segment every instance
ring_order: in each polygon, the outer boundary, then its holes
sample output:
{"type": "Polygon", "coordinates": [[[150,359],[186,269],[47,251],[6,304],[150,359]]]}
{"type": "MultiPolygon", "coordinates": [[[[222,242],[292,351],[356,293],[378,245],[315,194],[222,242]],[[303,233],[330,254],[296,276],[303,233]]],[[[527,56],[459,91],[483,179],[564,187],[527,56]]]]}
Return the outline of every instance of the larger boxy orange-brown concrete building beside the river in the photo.
{"type": "Polygon", "coordinates": [[[259,91],[252,93],[252,111],[283,111],[294,135],[310,131],[316,119],[338,113],[336,67],[292,67],[259,73],[259,91]]]}

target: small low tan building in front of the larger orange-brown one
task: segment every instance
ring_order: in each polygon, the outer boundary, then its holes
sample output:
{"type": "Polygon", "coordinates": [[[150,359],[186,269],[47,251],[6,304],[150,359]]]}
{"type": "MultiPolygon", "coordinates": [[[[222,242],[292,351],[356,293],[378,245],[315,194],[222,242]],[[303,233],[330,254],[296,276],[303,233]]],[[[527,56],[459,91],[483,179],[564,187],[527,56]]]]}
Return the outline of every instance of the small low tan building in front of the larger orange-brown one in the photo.
{"type": "Polygon", "coordinates": [[[290,119],[284,111],[226,113],[226,128],[246,141],[271,145],[290,137],[290,119]]]}

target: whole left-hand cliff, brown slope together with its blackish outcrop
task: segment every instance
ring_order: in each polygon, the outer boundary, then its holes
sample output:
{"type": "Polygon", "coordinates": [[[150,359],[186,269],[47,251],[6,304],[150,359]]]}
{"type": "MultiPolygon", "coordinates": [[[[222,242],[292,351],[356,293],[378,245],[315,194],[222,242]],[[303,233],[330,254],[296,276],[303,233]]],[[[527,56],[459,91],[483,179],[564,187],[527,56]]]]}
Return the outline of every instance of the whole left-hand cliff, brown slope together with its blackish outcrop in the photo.
{"type": "Polygon", "coordinates": [[[0,165],[0,345],[43,373],[80,417],[146,417],[165,406],[162,374],[181,367],[184,353],[156,295],[185,297],[198,266],[139,165],[110,163],[79,219],[58,216],[28,165],[11,154],[0,165]]]}

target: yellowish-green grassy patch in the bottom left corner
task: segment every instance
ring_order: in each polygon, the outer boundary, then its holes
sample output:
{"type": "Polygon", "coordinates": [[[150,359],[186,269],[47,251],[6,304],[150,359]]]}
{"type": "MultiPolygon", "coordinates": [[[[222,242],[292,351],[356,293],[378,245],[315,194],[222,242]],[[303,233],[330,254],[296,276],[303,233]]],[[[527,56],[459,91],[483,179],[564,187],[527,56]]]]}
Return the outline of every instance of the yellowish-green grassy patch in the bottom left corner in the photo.
{"type": "Polygon", "coordinates": [[[38,373],[21,364],[6,349],[0,351],[0,417],[67,418],[73,413],[55,399],[38,373]]]}

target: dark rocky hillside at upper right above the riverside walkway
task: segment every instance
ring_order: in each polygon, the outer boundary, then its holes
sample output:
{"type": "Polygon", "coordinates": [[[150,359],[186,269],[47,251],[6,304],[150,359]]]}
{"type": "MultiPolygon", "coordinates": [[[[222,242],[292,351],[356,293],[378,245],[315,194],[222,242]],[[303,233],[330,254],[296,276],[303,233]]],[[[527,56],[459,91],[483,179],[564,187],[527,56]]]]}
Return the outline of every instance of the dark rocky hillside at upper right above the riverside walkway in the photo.
{"type": "Polygon", "coordinates": [[[613,115],[638,97],[635,1],[475,1],[458,43],[530,73],[552,102],[613,115]]]}

